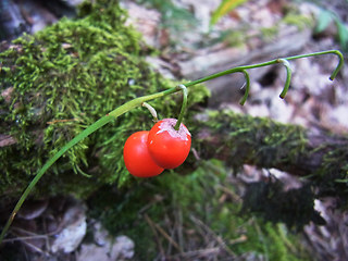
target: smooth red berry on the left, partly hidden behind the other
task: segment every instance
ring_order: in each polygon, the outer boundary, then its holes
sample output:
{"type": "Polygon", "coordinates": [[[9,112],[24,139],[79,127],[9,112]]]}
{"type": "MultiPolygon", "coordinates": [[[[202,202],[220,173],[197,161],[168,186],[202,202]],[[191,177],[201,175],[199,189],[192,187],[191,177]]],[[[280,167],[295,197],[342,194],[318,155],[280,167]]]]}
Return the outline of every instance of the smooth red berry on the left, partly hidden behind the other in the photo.
{"type": "Polygon", "coordinates": [[[137,177],[157,176],[163,167],[157,165],[150,157],[147,140],[149,132],[132,134],[123,148],[123,159],[128,172],[137,177]]]}

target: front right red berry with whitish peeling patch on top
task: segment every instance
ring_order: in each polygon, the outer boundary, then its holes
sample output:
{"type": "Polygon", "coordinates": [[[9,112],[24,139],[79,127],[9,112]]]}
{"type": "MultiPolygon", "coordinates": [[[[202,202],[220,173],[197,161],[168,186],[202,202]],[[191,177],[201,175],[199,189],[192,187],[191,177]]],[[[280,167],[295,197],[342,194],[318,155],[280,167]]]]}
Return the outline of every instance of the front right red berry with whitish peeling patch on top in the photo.
{"type": "Polygon", "coordinates": [[[149,132],[148,148],[154,162],[164,169],[179,166],[186,160],[190,147],[191,135],[184,124],[174,129],[175,119],[163,119],[149,132]]]}

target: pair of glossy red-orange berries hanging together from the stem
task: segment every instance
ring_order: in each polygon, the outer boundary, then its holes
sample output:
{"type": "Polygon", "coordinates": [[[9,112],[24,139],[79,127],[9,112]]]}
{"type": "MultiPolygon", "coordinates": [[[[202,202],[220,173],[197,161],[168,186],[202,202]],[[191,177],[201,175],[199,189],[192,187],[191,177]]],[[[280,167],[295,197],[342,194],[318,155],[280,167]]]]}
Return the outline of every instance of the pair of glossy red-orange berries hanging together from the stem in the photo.
{"type": "Polygon", "coordinates": [[[148,130],[132,134],[123,149],[128,172],[137,177],[161,174],[164,169],[175,169],[186,160],[191,135],[184,124],[174,128],[175,119],[164,119],[148,130]]]}

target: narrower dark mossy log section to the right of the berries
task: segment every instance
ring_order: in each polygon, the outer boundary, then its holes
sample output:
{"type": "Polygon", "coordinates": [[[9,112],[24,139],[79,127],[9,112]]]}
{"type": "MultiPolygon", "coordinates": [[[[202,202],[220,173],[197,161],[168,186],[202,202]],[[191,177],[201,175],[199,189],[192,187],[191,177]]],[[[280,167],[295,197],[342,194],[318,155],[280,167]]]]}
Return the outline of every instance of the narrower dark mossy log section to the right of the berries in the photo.
{"type": "Polygon", "coordinates": [[[195,117],[197,151],[235,169],[243,164],[275,167],[306,177],[319,196],[348,196],[348,136],[312,133],[300,126],[232,111],[195,117]]]}

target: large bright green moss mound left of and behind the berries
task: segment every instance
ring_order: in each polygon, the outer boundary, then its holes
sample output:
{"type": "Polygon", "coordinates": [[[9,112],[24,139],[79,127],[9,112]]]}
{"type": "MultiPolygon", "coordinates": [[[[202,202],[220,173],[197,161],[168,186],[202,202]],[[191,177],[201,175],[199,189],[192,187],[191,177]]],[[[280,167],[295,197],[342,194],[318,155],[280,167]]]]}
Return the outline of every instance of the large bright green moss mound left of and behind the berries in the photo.
{"type": "MultiPolygon", "coordinates": [[[[0,53],[1,92],[12,92],[0,96],[0,134],[16,142],[0,151],[0,195],[17,197],[50,157],[105,113],[177,84],[146,63],[140,35],[125,25],[126,13],[117,1],[85,3],[80,15],[1,48],[5,49],[0,53]]],[[[207,94],[197,87],[189,105],[207,94]]],[[[176,116],[179,100],[172,96],[151,104],[161,115],[176,116]]],[[[122,186],[129,177],[122,161],[123,144],[130,133],[151,125],[145,109],[126,113],[67,151],[36,192],[85,197],[103,184],[122,186]]]]}

